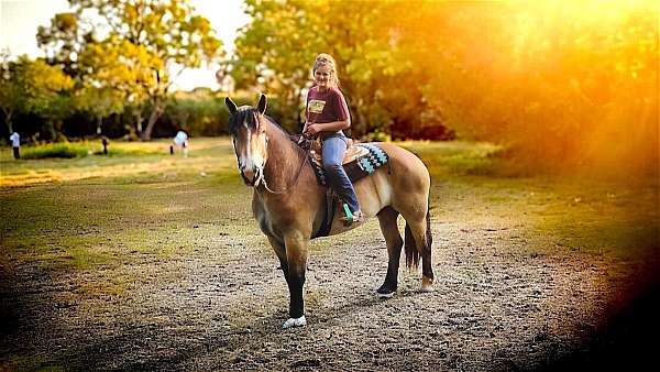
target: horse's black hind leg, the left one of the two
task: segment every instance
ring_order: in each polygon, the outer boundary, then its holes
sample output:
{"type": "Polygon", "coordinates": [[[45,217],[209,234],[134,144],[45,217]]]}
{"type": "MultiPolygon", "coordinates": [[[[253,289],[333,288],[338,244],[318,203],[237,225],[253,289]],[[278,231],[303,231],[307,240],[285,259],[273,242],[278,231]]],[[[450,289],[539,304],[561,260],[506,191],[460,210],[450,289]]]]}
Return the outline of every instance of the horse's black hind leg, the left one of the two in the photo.
{"type": "Polygon", "coordinates": [[[398,231],[396,219],[398,211],[392,207],[386,207],[378,212],[378,221],[381,222],[381,231],[385,238],[385,244],[387,245],[387,275],[385,276],[385,283],[377,289],[378,296],[392,297],[396,292],[398,282],[398,267],[399,259],[402,255],[402,247],[404,241],[398,231]]]}

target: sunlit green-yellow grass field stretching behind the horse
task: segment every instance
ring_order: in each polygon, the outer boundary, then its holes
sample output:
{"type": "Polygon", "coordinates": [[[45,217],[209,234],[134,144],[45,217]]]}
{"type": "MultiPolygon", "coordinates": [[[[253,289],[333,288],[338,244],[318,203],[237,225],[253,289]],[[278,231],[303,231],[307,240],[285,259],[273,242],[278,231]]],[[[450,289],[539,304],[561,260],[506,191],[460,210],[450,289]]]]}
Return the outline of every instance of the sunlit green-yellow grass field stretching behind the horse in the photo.
{"type": "MultiPolygon", "coordinates": [[[[498,147],[487,143],[400,144],[429,167],[439,218],[451,214],[487,222],[493,214],[513,210],[529,226],[528,233],[563,249],[626,255],[657,243],[657,179],[505,177],[497,176],[506,173],[498,168],[498,147]],[[471,208],[459,207],[465,204],[471,208]]],[[[162,241],[174,239],[174,245],[186,247],[199,223],[213,220],[200,215],[205,208],[228,207],[221,215],[234,211],[239,220],[251,218],[251,190],[240,183],[229,139],[196,139],[188,157],[169,155],[168,146],[166,141],[117,142],[109,156],[21,161],[11,158],[11,149],[2,149],[3,249],[47,266],[64,264],[58,258],[88,265],[118,256],[113,253],[121,249],[114,252],[118,247],[107,242],[110,237],[122,247],[161,254],[173,247],[162,241]],[[141,237],[145,226],[151,226],[150,234],[141,237]]],[[[248,226],[243,233],[257,233],[248,226]]]]}

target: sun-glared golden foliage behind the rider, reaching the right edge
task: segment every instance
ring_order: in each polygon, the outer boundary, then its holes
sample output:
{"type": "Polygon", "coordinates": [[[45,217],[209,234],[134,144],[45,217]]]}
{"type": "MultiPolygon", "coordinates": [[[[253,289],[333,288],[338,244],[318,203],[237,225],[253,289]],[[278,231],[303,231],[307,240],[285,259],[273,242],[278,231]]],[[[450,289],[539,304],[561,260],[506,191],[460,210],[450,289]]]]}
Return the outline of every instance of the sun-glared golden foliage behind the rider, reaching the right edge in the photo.
{"type": "Polygon", "coordinates": [[[239,88],[280,97],[287,118],[328,52],[354,135],[455,132],[537,165],[658,172],[657,3],[250,0],[245,10],[253,20],[227,70],[239,88]]]}

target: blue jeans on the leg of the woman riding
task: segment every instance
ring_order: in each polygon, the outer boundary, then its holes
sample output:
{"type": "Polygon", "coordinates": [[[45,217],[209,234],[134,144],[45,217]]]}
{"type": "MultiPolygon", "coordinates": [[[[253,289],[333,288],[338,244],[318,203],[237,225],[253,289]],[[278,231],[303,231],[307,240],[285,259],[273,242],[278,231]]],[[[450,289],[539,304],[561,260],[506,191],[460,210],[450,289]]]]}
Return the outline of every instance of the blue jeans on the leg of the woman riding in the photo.
{"type": "Polygon", "coordinates": [[[352,212],[360,210],[360,201],[355,196],[353,184],[346,175],[341,162],[346,153],[346,141],[343,136],[329,136],[323,140],[323,169],[328,175],[330,187],[349,205],[352,212]]]}

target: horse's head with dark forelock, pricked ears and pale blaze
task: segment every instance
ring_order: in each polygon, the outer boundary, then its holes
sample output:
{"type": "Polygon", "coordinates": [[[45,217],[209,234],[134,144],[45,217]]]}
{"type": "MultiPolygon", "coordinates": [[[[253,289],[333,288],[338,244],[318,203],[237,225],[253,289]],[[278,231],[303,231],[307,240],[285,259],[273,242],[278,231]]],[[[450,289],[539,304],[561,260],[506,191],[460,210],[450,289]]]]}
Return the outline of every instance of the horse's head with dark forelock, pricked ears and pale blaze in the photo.
{"type": "Polygon", "coordinates": [[[266,136],[266,96],[261,95],[256,108],[237,107],[227,97],[224,105],[229,109],[229,133],[232,136],[239,171],[248,186],[258,186],[268,158],[268,138],[266,136]]]}

